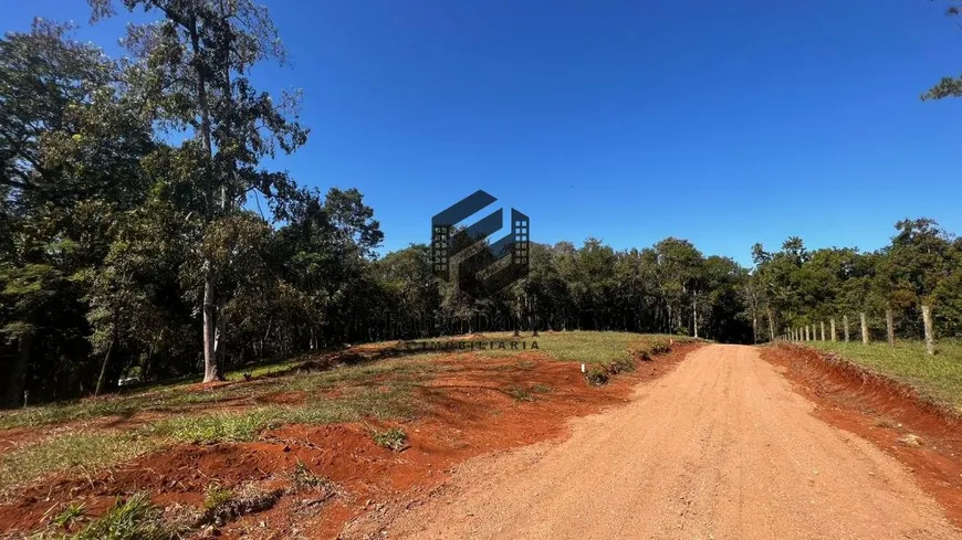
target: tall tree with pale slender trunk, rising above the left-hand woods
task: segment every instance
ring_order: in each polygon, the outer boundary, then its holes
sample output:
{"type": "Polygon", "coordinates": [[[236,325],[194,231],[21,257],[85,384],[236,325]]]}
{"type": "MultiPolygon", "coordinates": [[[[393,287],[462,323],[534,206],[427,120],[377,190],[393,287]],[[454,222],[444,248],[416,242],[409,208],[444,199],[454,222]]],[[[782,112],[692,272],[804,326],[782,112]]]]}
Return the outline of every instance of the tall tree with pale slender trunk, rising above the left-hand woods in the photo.
{"type": "MultiPolygon", "coordinates": [[[[94,18],[112,13],[109,0],[91,0],[94,18]]],[[[264,8],[250,0],[124,0],[127,9],[158,11],[159,24],[134,27],[127,46],[139,59],[133,67],[136,92],[159,121],[187,128],[194,140],[181,149],[199,161],[194,179],[202,229],[233,214],[252,190],[264,195],[285,218],[284,204],[296,197],[284,173],[259,168],[278,148],[292,152],[306,141],[297,125],[295,99],[275,104],[258,93],[249,80],[253,64],[284,52],[264,8]],[[199,151],[198,151],[199,150],[199,151]],[[198,159],[199,158],[199,159],[198,159]]],[[[218,311],[229,301],[218,295],[210,260],[200,262],[205,381],[221,378],[224,318],[218,311]]]]}

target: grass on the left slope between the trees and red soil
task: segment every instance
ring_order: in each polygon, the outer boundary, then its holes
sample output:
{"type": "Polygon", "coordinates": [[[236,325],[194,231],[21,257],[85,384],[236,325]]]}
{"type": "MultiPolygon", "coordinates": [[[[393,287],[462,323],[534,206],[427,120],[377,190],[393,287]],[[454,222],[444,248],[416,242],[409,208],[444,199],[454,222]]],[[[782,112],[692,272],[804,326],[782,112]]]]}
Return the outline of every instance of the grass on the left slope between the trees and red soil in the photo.
{"type": "MultiPolygon", "coordinates": [[[[605,371],[607,378],[607,373],[632,368],[635,357],[653,353],[666,346],[669,338],[686,340],[624,332],[546,332],[537,338],[538,349],[534,352],[558,361],[587,363],[592,367],[589,375],[605,371]]],[[[521,339],[529,343],[534,341],[531,336],[521,339]]],[[[488,335],[483,340],[510,341],[512,333],[488,335]]],[[[367,348],[376,356],[377,345],[367,348]]],[[[496,348],[471,351],[469,353],[482,357],[510,357],[519,352],[496,348]]],[[[412,390],[435,372],[452,369],[429,360],[450,352],[427,350],[404,358],[362,361],[326,371],[299,371],[313,358],[306,356],[228,373],[228,380],[242,381],[244,373],[250,374],[251,380],[212,389],[188,388],[189,383],[181,381],[129,394],[6,412],[0,414],[0,430],[100,417],[130,417],[151,412],[160,414],[161,420],[126,431],[69,425],[65,434],[46,436],[0,454],[0,493],[13,493],[24,484],[67,470],[91,476],[98,469],[174,444],[254,441],[265,430],[283,424],[327,424],[366,417],[410,420],[419,411],[412,390]],[[330,392],[335,390],[335,393],[330,392]],[[263,400],[265,395],[289,392],[301,394],[304,402],[278,404],[263,400]],[[230,409],[224,409],[226,404],[230,409]]],[[[516,369],[521,370],[533,366],[529,359],[516,362],[516,369]]],[[[531,401],[535,394],[550,391],[547,387],[519,387],[508,392],[520,401],[531,401]]],[[[406,440],[399,430],[375,434],[375,437],[391,448],[402,447],[406,440]]]]}

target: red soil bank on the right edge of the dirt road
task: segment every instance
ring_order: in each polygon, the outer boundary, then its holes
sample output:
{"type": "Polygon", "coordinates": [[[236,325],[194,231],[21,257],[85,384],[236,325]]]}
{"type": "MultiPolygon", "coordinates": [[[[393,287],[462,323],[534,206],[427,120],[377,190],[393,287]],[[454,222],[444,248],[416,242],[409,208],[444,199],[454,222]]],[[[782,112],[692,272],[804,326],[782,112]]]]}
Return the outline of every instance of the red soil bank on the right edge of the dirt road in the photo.
{"type": "Polygon", "coordinates": [[[762,358],[816,405],[816,416],[871,441],[909,467],[919,485],[962,528],[962,422],[914,391],[889,379],[812,349],[777,346],[762,358]],[[899,442],[906,435],[921,445],[899,442]]]}

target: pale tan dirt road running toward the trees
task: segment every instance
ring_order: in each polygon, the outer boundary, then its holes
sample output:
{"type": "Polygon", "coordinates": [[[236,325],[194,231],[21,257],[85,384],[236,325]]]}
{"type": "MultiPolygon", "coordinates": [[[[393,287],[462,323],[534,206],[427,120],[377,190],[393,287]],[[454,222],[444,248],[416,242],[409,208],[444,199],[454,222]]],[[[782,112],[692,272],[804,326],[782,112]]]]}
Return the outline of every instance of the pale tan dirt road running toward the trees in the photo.
{"type": "Polygon", "coordinates": [[[563,443],[463,466],[390,538],[962,538],[911,473],[809,414],[756,349],[710,346],[563,443]]]}

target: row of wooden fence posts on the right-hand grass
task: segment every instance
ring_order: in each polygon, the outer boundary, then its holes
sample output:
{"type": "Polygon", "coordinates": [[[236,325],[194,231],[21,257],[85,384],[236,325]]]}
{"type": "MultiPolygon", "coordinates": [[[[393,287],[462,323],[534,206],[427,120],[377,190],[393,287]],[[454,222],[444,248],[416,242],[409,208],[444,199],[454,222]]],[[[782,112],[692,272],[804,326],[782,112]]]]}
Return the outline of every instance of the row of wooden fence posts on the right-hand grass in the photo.
{"type": "MultiPolygon", "coordinates": [[[[926,352],[929,354],[935,353],[935,332],[932,328],[932,308],[922,306],[921,313],[922,330],[926,339],[926,352]]],[[[861,339],[862,345],[869,345],[872,341],[878,341],[881,335],[878,333],[877,327],[869,324],[869,318],[865,311],[858,314],[857,320],[849,320],[848,315],[841,315],[840,318],[830,317],[828,319],[828,331],[826,333],[826,321],[820,320],[816,324],[806,324],[793,326],[782,336],[782,339],[787,341],[838,341],[844,339],[861,339]],[[838,320],[840,319],[840,320],[838,320]],[[840,324],[840,325],[839,325],[840,324]],[[840,328],[839,328],[840,326],[840,328]],[[839,335],[840,330],[840,335],[839,335]]],[[[889,346],[896,346],[896,321],[891,309],[885,311],[885,339],[889,346]]]]}

